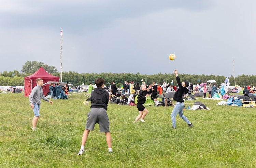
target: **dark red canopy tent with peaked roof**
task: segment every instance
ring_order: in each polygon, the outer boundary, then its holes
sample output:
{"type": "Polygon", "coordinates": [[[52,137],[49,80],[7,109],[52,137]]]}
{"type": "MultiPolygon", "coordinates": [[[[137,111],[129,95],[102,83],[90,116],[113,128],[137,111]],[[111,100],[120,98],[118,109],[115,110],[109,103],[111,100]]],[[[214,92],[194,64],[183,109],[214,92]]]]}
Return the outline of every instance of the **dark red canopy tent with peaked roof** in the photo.
{"type": "MultiPolygon", "coordinates": [[[[24,77],[25,97],[28,97],[32,91],[32,88],[37,86],[37,82],[35,82],[35,80],[37,80],[38,78],[41,78],[44,81],[44,83],[48,81],[57,81],[57,82],[59,81],[59,77],[55,77],[54,75],[49,74],[44,70],[43,67],[41,67],[32,75],[28,77],[24,77]]],[[[43,92],[44,92],[44,95],[47,95],[47,93],[49,92],[49,85],[43,85],[43,92]]]]}

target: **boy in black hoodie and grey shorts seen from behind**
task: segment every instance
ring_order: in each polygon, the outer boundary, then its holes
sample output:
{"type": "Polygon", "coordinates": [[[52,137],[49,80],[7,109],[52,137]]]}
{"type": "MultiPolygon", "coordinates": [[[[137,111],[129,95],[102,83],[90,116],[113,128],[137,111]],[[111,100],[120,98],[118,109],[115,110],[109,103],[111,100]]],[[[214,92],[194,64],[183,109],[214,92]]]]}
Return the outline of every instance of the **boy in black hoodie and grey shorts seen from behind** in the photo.
{"type": "Polygon", "coordinates": [[[88,137],[90,130],[94,129],[95,124],[98,122],[100,127],[100,132],[105,132],[106,142],[108,144],[109,153],[112,153],[111,148],[111,135],[109,132],[109,117],[106,113],[108,103],[109,103],[109,93],[105,91],[104,79],[97,78],[95,80],[97,88],[91,93],[91,110],[87,114],[86,127],[82,137],[81,149],[78,152],[78,155],[83,154],[84,146],[88,137]]]}

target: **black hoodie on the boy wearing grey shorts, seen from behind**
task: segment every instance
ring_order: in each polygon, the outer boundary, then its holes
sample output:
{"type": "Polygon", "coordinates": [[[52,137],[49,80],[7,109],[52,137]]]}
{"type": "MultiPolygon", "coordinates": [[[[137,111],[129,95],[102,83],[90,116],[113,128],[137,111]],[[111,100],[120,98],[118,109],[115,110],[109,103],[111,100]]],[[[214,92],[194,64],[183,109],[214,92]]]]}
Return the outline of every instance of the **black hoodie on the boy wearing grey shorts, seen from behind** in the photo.
{"type": "Polygon", "coordinates": [[[91,108],[105,108],[109,103],[109,93],[102,87],[96,87],[91,93],[91,108]]]}

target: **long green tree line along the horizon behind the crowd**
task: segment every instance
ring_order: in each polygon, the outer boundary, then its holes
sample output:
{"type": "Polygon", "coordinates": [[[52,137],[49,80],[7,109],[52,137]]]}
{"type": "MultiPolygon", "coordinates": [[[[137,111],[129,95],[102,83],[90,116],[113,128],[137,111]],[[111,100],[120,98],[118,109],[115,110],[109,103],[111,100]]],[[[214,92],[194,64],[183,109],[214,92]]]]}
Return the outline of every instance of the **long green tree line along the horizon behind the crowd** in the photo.
{"type": "MultiPolygon", "coordinates": [[[[17,70],[14,71],[3,71],[0,72],[0,85],[1,86],[12,86],[12,85],[24,85],[24,77],[27,77],[34,72],[36,72],[40,67],[43,67],[48,73],[51,73],[54,76],[60,77],[60,72],[57,72],[57,68],[53,66],[48,66],[43,63],[39,63],[36,61],[27,61],[22,68],[22,72],[20,73],[17,70]]],[[[208,80],[215,80],[217,86],[220,86],[221,83],[224,83],[227,77],[221,75],[197,75],[197,74],[179,74],[181,80],[186,80],[188,82],[192,82],[194,85],[200,84],[203,82],[207,82],[208,80]],[[200,80],[200,82],[198,82],[200,80]]],[[[105,80],[105,85],[110,86],[111,81],[115,81],[116,86],[120,87],[124,84],[125,81],[131,82],[134,81],[146,82],[147,84],[151,84],[152,82],[156,82],[158,84],[162,84],[163,82],[171,84],[173,80],[173,85],[177,85],[176,77],[173,73],[158,73],[158,74],[141,74],[137,73],[77,73],[77,72],[62,72],[62,82],[68,82],[73,84],[73,86],[79,86],[83,83],[85,85],[89,85],[93,83],[97,78],[103,78],[105,80]]],[[[235,85],[234,77],[231,75],[229,77],[230,85],[235,85]]],[[[243,87],[244,85],[255,85],[256,84],[256,76],[255,75],[238,75],[236,77],[236,84],[243,87]]]]}

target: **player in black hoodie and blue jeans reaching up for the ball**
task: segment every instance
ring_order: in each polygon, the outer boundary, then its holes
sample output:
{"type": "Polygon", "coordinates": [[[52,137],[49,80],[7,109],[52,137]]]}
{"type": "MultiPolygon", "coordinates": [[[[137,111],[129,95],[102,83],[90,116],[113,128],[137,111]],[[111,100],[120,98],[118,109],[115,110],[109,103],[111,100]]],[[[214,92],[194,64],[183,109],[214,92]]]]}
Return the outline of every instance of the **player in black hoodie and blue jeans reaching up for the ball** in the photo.
{"type": "Polygon", "coordinates": [[[188,81],[183,80],[181,83],[180,77],[176,69],[174,69],[173,73],[176,75],[176,81],[178,83],[179,89],[175,92],[173,96],[173,100],[176,101],[176,104],[172,110],[171,119],[172,119],[172,128],[176,129],[176,115],[179,113],[179,116],[188,124],[188,127],[193,127],[194,125],[187,119],[186,116],[183,115],[183,107],[184,100],[183,96],[188,93],[187,87],[189,86],[188,81]]]}

